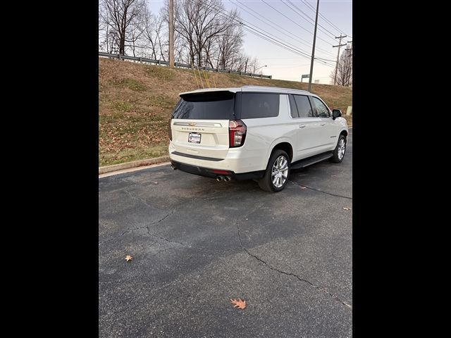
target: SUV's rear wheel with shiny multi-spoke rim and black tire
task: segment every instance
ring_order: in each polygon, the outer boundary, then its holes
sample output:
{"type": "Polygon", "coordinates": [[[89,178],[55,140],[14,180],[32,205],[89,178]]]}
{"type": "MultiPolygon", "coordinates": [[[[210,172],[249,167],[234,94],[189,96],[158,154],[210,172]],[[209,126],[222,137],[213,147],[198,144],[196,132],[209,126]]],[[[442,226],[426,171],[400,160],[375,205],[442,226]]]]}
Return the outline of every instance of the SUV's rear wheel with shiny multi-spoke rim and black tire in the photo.
{"type": "Polygon", "coordinates": [[[280,192],[288,183],[290,173],[290,157],[285,151],[276,149],[269,158],[268,166],[259,186],[266,192],[280,192]]]}

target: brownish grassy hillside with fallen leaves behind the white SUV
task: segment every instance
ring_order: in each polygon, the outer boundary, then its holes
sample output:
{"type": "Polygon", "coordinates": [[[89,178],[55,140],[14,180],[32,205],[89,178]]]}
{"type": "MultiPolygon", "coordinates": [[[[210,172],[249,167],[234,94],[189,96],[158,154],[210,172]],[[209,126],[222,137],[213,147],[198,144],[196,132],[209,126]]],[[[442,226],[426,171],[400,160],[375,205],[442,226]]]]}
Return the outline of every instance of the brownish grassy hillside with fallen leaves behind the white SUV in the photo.
{"type": "MultiPolygon", "coordinates": [[[[307,83],[301,82],[207,75],[218,88],[249,84],[307,90],[307,83]]],[[[197,88],[192,70],[99,58],[99,165],[167,155],[168,120],[178,93],[197,88]]],[[[343,113],[352,105],[348,87],[313,84],[311,92],[343,113]]],[[[347,120],[351,125],[352,118],[347,120]]]]}

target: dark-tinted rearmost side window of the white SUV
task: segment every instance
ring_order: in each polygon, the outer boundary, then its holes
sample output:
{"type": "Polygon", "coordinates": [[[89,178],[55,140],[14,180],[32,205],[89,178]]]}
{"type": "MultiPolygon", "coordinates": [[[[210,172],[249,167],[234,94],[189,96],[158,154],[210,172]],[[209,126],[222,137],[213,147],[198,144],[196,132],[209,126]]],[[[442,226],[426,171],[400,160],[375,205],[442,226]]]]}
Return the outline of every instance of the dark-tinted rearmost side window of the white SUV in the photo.
{"type": "Polygon", "coordinates": [[[241,118],[272,118],[279,115],[279,94],[242,93],[241,118]]]}

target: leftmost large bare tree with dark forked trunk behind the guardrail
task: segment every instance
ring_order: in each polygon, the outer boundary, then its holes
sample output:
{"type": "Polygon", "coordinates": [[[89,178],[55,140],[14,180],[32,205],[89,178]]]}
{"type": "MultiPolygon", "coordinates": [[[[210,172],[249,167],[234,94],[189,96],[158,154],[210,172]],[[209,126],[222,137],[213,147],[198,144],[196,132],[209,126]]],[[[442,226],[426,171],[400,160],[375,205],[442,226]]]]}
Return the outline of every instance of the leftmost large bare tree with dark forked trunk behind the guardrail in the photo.
{"type": "MultiPolygon", "coordinates": [[[[129,39],[130,28],[135,24],[145,8],[145,0],[103,0],[104,18],[108,18],[106,25],[114,34],[114,42],[119,54],[125,54],[125,42],[129,39]]],[[[136,27],[135,27],[136,28],[136,27]]],[[[137,32],[135,32],[135,37],[137,32]]],[[[131,37],[130,39],[135,39],[131,37]]]]}

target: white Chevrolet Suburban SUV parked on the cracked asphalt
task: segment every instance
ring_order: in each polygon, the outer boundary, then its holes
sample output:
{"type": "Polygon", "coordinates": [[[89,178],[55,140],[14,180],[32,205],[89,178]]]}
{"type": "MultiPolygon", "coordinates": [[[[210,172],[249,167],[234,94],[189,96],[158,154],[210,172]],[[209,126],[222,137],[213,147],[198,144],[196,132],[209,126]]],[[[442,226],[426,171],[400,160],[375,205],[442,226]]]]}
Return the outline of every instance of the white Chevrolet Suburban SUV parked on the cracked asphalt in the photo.
{"type": "Polygon", "coordinates": [[[280,192],[290,169],[345,156],[345,118],[310,92],[244,86],[180,97],[169,130],[173,169],[218,181],[254,179],[280,192]]]}

